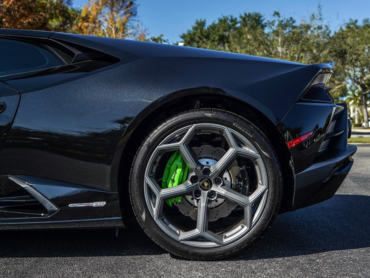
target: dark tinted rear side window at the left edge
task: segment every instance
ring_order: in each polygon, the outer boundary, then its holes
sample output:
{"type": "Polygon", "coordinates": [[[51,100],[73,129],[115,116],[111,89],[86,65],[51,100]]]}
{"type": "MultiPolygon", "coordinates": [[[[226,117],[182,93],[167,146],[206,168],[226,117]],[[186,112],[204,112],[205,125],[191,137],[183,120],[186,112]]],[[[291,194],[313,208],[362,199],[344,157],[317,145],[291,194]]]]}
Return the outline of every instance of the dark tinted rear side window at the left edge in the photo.
{"type": "Polygon", "coordinates": [[[61,65],[57,57],[41,46],[0,39],[0,77],[61,65]]]}

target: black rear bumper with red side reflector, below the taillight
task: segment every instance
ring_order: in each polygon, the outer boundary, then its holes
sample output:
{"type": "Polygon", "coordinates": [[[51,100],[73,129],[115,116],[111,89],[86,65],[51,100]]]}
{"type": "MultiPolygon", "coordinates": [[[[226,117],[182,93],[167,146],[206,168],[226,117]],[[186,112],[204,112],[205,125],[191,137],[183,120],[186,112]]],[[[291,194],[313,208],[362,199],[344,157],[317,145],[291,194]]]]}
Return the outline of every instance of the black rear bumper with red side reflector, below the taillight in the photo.
{"type": "MultiPolygon", "coordinates": [[[[321,105],[314,104],[309,105],[310,108],[307,107],[312,109],[310,110],[312,113],[316,113],[312,117],[316,120],[311,124],[318,123],[313,129],[308,124],[304,126],[309,127],[308,130],[314,130],[314,134],[290,149],[295,169],[295,196],[292,210],[331,198],[353,165],[351,157],[357,147],[347,144],[347,138],[350,136],[347,133],[349,125],[347,104],[338,103],[334,106],[327,104],[324,105],[326,109],[318,110],[317,107],[321,105]],[[328,132],[328,129],[331,132],[328,132]],[[323,141],[329,142],[324,144],[323,141]],[[322,146],[326,147],[322,149],[322,146]]],[[[312,115],[312,113],[303,110],[299,112],[299,110],[292,109],[292,112],[295,112],[292,116],[296,116],[298,122],[305,123],[305,120],[298,118],[299,115],[312,115]]],[[[292,119],[289,113],[287,117],[292,119]]],[[[303,129],[297,134],[304,134],[306,131],[303,129]]]]}

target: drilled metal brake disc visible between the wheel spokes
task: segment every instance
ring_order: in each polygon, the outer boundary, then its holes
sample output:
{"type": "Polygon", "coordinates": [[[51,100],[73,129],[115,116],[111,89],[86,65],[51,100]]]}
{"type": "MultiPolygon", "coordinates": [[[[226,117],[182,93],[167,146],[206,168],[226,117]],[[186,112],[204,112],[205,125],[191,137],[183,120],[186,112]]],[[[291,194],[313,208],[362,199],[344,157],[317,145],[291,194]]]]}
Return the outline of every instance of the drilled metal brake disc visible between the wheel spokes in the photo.
{"type": "MultiPolygon", "coordinates": [[[[211,166],[215,164],[221,156],[225,153],[225,150],[221,148],[214,148],[211,145],[202,145],[200,147],[191,148],[196,158],[202,165],[211,166]]],[[[225,186],[232,188],[233,184],[236,184],[235,176],[238,175],[240,167],[236,160],[229,166],[229,168],[223,173],[223,183],[225,186]]],[[[192,196],[183,196],[180,202],[175,201],[174,205],[178,207],[179,211],[190,216],[192,219],[197,219],[197,203],[192,196]]],[[[231,203],[225,199],[217,198],[212,201],[208,221],[216,221],[221,217],[228,216],[238,205],[231,203]]]]}

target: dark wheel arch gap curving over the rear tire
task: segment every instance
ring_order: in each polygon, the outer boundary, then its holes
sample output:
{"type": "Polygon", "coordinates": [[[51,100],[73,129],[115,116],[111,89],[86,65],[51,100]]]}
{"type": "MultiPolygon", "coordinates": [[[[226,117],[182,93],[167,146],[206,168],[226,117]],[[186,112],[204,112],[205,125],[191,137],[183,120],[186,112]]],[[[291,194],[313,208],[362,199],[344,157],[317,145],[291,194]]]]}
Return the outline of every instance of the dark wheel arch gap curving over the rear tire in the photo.
{"type": "Polygon", "coordinates": [[[228,110],[242,116],[258,125],[258,128],[272,143],[279,158],[283,172],[283,201],[280,211],[291,209],[294,192],[294,175],[290,167],[290,152],[283,136],[271,119],[250,103],[226,94],[218,88],[197,87],[166,95],[146,107],[136,116],[122,136],[120,160],[117,161],[117,183],[120,192],[122,216],[132,216],[131,203],[128,194],[128,183],[131,163],[135,153],[145,136],[155,126],[179,111],[197,108],[217,108],[228,110]],[[274,138],[274,140],[271,140],[274,138]]]}

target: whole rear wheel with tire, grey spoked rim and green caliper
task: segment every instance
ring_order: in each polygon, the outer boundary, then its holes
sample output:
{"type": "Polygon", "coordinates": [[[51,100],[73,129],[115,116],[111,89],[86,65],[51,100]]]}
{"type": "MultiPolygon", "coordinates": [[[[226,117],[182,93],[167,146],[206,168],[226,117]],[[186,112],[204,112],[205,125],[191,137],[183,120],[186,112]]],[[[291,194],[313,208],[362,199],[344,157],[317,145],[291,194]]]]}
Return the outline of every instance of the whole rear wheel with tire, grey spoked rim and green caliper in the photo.
{"type": "Polygon", "coordinates": [[[231,112],[172,116],[142,142],[130,196],[145,232],[171,253],[218,259],[254,244],[279,210],[276,154],[255,125],[231,112]]]}

